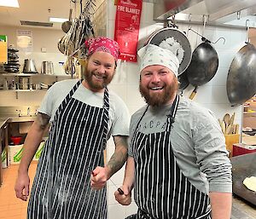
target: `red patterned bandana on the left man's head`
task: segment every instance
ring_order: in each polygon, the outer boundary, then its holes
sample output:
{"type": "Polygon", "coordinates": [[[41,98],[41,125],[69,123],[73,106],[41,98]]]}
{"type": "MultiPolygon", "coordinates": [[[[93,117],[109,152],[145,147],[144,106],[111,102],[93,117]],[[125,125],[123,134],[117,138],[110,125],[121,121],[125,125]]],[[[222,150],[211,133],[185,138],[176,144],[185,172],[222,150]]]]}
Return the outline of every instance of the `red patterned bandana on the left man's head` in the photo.
{"type": "Polygon", "coordinates": [[[87,55],[91,55],[96,51],[103,51],[113,55],[115,61],[119,58],[119,43],[107,37],[96,37],[85,41],[88,48],[87,55]]]}

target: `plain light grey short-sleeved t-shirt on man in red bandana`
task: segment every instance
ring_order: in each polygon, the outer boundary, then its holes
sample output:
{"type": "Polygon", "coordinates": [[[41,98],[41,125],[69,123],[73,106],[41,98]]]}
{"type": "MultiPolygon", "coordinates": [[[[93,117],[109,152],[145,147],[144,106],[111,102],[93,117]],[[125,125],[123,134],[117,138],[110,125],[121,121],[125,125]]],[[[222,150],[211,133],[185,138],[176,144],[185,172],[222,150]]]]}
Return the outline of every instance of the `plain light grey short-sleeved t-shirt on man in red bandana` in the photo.
{"type": "MultiPolygon", "coordinates": [[[[69,79],[55,83],[47,91],[38,112],[50,116],[50,122],[53,121],[57,108],[65,99],[67,94],[78,82],[78,79],[69,79]]],[[[103,107],[103,93],[95,93],[86,89],[83,84],[73,94],[73,98],[82,101],[93,107],[103,107]]],[[[109,91],[109,121],[108,138],[110,135],[129,135],[130,114],[121,98],[109,91]]]]}

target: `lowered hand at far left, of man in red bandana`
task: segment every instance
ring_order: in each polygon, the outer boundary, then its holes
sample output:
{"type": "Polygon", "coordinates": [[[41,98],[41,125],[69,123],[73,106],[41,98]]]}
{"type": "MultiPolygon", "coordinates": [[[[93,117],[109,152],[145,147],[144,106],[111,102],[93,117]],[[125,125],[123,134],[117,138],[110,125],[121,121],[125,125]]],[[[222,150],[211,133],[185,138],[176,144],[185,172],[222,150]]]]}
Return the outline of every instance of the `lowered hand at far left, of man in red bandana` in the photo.
{"type": "Polygon", "coordinates": [[[15,183],[16,197],[26,201],[29,195],[29,176],[28,173],[22,173],[18,175],[15,183]]]}

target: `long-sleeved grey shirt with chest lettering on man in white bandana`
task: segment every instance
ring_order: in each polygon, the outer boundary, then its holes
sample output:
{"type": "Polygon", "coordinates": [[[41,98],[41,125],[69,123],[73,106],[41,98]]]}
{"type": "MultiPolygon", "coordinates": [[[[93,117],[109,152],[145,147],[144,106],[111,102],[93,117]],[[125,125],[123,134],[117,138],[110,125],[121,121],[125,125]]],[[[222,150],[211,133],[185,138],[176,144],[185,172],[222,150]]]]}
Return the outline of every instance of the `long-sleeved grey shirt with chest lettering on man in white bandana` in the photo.
{"type": "MultiPolygon", "coordinates": [[[[131,117],[130,136],[147,106],[131,117]]],[[[166,115],[172,105],[161,108],[148,107],[138,126],[144,134],[166,130],[166,115]]],[[[131,140],[131,139],[130,139],[131,140]]],[[[224,135],[218,120],[207,108],[180,98],[173,129],[172,151],[183,175],[201,192],[232,192],[231,164],[225,147],[224,135]]],[[[133,156],[131,145],[129,156],[133,156]]]]}

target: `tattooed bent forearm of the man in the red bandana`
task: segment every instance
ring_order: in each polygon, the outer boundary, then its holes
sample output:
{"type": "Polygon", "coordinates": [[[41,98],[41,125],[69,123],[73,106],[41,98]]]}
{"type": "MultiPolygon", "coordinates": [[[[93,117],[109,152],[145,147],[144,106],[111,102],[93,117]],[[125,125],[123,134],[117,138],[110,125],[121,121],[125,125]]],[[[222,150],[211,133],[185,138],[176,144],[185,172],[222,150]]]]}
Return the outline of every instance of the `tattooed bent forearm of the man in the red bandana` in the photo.
{"type": "Polygon", "coordinates": [[[110,176],[121,169],[127,159],[128,136],[113,136],[115,150],[112,157],[108,161],[108,167],[111,170],[110,176]]]}

